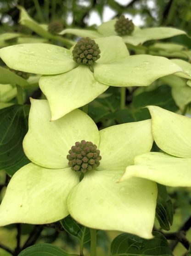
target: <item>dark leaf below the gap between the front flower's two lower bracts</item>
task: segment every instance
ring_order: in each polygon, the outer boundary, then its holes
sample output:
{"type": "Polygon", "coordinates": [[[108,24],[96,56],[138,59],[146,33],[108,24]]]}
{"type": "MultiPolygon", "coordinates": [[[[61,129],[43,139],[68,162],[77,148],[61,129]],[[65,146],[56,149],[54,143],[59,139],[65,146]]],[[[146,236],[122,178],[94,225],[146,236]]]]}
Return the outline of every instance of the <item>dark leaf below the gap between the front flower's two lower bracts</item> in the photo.
{"type": "Polygon", "coordinates": [[[82,236],[84,235],[84,244],[90,241],[90,229],[88,227],[80,225],[78,222],[73,220],[70,215],[62,219],[60,223],[69,234],[78,238],[80,241],[82,239],[82,236]]]}

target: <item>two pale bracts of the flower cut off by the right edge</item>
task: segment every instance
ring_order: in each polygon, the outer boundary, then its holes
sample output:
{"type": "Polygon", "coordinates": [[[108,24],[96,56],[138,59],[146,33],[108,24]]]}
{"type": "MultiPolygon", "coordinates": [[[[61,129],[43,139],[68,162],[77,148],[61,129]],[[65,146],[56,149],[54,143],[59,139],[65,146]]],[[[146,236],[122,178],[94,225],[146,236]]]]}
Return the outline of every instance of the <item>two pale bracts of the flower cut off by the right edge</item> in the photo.
{"type": "Polygon", "coordinates": [[[191,186],[191,118],[161,107],[148,108],[154,140],[167,154],[136,156],[134,165],[126,168],[120,181],[141,177],[168,186],[191,186]]]}

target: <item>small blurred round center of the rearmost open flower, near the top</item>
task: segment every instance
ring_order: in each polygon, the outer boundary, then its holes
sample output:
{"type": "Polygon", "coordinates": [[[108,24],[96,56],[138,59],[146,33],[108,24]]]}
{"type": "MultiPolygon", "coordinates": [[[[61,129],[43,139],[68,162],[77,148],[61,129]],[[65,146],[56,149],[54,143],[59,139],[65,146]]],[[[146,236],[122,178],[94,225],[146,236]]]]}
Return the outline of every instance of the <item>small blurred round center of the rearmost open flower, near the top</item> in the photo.
{"type": "Polygon", "coordinates": [[[124,15],[120,16],[114,27],[119,36],[128,36],[135,29],[135,25],[133,24],[132,20],[125,18],[124,15]]]}

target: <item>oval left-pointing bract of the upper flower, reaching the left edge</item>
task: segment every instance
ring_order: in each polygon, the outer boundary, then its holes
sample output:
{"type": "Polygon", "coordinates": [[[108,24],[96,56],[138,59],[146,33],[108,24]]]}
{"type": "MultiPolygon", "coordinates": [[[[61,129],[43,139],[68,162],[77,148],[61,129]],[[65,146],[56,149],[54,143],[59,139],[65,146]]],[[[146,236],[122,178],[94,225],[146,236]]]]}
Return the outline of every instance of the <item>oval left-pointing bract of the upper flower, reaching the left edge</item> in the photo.
{"type": "Polygon", "coordinates": [[[46,43],[18,44],[0,49],[0,58],[7,66],[34,74],[60,74],[77,64],[69,50],[46,43]]]}

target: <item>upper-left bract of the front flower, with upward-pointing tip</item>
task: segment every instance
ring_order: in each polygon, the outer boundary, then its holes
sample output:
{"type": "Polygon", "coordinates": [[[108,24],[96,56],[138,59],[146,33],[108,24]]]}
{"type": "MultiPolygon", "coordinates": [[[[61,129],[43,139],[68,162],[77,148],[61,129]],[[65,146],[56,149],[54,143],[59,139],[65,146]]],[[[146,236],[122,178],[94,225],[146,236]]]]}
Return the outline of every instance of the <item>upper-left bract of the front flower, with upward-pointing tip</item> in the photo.
{"type": "Polygon", "coordinates": [[[31,100],[28,133],[23,140],[27,157],[46,168],[67,167],[68,151],[77,141],[99,144],[99,131],[93,120],[81,110],[74,110],[50,122],[51,111],[46,100],[31,100]]]}

